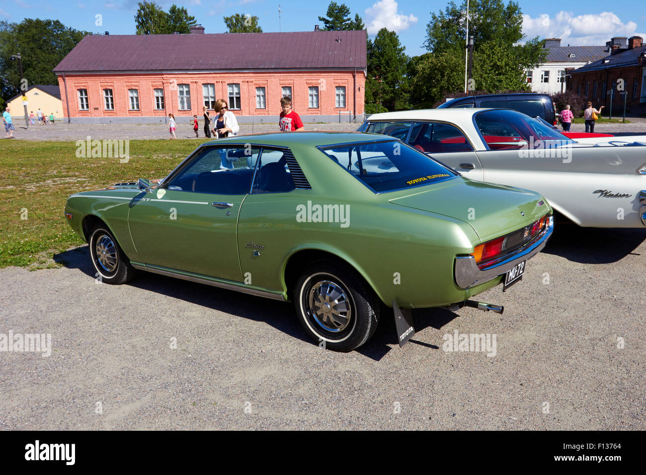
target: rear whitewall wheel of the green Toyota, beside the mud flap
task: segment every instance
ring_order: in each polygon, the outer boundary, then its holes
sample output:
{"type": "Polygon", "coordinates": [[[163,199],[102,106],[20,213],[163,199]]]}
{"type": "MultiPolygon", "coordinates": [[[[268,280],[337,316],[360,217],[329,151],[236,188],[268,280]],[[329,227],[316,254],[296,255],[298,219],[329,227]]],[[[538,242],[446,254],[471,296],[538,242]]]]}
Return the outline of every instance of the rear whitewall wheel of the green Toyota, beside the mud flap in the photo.
{"type": "Polygon", "coordinates": [[[294,289],[298,320],[315,341],[339,352],[366,343],[379,323],[379,299],[353,269],[328,261],[309,266],[294,289]]]}

